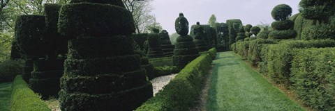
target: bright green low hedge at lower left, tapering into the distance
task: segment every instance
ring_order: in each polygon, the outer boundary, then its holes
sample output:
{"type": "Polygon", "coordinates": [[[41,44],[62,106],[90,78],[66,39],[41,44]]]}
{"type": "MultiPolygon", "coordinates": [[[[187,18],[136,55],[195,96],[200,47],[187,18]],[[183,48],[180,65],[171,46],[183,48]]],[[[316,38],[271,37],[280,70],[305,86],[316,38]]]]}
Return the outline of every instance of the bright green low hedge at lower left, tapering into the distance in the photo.
{"type": "Polygon", "coordinates": [[[17,75],[14,79],[10,107],[12,111],[51,111],[47,104],[24,82],[21,75],[17,75]]]}

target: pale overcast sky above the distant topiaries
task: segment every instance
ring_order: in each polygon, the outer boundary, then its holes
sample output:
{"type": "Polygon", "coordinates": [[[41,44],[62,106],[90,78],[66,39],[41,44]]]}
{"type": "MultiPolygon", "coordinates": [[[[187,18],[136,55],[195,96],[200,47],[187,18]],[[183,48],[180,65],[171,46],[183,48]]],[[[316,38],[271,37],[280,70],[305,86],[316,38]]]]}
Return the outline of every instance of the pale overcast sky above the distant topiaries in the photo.
{"type": "Polygon", "coordinates": [[[300,0],[154,0],[152,13],[156,22],[161,23],[169,34],[175,33],[174,20],[179,12],[184,13],[190,28],[196,22],[207,24],[209,17],[214,14],[217,22],[227,19],[241,19],[242,23],[253,26],[260,22],[271,24],[271,10],[278,4],[288,4],[292,15],[298,13],[300,0]]]}

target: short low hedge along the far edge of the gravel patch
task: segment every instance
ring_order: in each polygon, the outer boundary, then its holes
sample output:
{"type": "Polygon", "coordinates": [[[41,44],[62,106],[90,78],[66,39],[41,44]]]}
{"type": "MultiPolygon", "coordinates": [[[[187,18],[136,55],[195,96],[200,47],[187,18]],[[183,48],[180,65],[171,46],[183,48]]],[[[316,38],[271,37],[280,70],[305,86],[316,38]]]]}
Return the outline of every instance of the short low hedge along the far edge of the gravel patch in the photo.
{"type": "Polygon", "coordinates": [[[165,76],[170,74],[177,74],[179,70],[175,66],[154,67],[154,76],[165,76]]]}

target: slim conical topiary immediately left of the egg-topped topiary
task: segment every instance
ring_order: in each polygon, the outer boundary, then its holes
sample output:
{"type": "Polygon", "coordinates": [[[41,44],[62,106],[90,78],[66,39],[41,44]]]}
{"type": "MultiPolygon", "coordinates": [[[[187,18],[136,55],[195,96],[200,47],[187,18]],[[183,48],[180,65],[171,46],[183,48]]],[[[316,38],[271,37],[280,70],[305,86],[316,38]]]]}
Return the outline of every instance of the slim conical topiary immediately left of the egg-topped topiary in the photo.
{"type": "Polygon", "coordinates": [[[161,48],[165,57],[173,56],[174,45],[171,44],[168,31],[161,31],[161,33],[159,33],[159,37],[161,37],[161,48]]]}

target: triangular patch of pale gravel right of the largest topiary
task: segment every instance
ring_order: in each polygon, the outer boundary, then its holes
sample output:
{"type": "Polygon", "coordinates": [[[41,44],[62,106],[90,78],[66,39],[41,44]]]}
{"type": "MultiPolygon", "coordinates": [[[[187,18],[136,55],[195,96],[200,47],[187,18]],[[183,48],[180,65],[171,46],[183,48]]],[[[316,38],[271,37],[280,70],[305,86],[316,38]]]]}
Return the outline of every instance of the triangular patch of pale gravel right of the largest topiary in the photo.
{"type": "Polygon", "coordinates": [[[154,90],[154,96],[164,88],[165,85],[168,85],[170,83],[170,80],[172,80],[177,74],[171,74],[168,76],[160,76],[157,78],[154,78],[153,80],[150,80],[152,83],[152,89],[154,90]]]}

